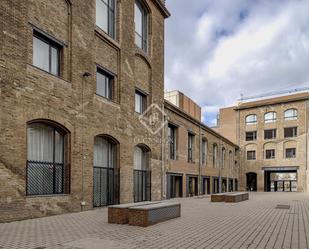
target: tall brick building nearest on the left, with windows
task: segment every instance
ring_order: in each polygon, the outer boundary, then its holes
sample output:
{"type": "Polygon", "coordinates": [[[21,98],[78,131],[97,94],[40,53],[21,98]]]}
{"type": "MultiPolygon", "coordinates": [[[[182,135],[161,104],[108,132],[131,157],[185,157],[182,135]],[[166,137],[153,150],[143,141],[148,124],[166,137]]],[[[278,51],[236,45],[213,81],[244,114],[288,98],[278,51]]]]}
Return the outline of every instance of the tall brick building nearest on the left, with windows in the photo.
{"type": "Polygon", "coordinates": [[[161,0],[0,2],[0,221],[162,198],[161,0]]]}

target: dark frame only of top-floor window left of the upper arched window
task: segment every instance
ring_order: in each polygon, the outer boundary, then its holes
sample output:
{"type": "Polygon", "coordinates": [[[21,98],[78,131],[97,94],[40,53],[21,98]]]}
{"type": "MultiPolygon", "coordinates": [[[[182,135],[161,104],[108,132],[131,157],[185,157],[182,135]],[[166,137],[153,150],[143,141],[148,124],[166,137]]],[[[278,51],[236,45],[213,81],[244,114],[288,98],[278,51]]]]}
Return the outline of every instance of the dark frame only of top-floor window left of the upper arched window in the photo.
{"type": "MultiPolygon", "coordinates": [[[[109,35],[111,38],[116,38],[116,1],[117,0],[107,0],[107,4],[103,0],[101,1],[107,7],[107,32],[103,30],[100,26],[96,24],[96,26],[101,29],[104,33],[109,35]]],[[[97,11],[97,10],[96,10],[97,11]]]]}

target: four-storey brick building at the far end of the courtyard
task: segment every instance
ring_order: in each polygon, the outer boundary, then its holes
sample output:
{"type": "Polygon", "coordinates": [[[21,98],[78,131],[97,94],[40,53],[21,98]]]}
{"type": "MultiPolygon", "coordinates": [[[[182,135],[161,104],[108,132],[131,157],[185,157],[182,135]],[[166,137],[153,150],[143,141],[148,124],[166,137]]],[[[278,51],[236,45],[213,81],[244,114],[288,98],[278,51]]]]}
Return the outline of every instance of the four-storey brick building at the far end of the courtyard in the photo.
{"type": "Polygon", "coordinates": [[[220,110],[217,132],[240,147],[240,187],[308,191],[308,92],[220,110]]]}

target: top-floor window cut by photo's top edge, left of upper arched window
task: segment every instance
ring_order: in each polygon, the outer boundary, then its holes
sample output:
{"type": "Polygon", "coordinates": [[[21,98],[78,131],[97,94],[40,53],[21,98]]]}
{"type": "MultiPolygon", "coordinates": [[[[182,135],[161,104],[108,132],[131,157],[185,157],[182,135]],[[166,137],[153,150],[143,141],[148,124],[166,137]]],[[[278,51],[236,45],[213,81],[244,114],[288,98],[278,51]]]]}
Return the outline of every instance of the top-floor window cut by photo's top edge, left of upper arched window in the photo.
{"type": "Polygon", "coordinates": [[[115,1],[96,0],[96,25],[115,38],[115,1]]]}

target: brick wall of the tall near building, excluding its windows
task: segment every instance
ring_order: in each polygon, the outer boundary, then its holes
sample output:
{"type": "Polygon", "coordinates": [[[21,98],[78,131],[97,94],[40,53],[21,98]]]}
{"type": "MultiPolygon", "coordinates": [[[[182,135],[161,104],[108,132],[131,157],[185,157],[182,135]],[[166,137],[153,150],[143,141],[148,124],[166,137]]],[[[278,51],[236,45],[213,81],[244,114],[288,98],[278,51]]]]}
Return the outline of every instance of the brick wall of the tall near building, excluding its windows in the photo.
{"type": "Polygon", "coordinates": [[[95,26],[95,0],[0,2],[0,221],[80,211],[82,200],[84,210],[91,209],[94,137],[102,134],[119,142],[120,202],[133,200],[133,149],[139,143],[151,149],[152,199],[161,198],[161,134],[148,132],[134,112],[136,87],[149,94],[148,104],[163,104],[164,17],[155,1],[145,3],[148,54],[135,46],[134,0],[118,2],[115,40],[95,26]],[[30,24],[65,44],[60,77],[32,66],[30,24]],[[115,74],[114,101],[95,94],[96,65],[115,74]],[[69,131],[69,194],[26,196],[26,129],[36,119],[69,131]]]}

